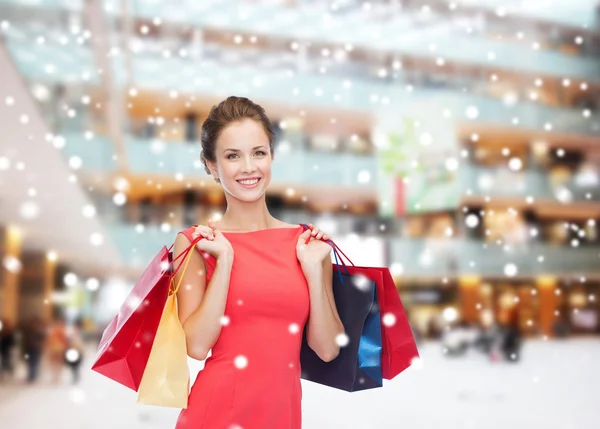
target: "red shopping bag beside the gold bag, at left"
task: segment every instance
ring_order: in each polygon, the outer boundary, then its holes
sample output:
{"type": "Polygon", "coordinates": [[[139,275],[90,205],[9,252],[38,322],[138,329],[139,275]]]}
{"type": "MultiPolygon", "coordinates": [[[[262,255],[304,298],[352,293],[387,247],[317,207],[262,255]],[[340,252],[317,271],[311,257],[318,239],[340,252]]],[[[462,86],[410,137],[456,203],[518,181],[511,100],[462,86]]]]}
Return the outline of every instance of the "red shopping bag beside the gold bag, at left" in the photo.
{"type": "MultiPolygon", "coordinates": [[[[173,263],[187,255],[202,237],[173,260],[171,246],[158,252],[102,333],[92,369],[122,385],[139,389],[156,331],[167,302],[171,281],[182,265],[173,263]]],[[[181,261],[183,262],[183,260],[181,261]]]]}

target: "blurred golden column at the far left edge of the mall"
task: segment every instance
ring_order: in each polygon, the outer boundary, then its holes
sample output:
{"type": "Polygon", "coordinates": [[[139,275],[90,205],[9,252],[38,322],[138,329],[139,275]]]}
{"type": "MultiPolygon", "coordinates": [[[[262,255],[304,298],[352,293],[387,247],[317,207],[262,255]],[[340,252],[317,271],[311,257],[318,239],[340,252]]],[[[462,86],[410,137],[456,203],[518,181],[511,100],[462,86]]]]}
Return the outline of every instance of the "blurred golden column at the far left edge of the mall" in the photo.
{"type": "Polygon", "coordinates": [[[0,229],[2,266],[0,266],[0,301],[2,316],[14,324],[19,323],[19,286],[21,278],[21,249],[23,236],[16,226],[0,229]]]}

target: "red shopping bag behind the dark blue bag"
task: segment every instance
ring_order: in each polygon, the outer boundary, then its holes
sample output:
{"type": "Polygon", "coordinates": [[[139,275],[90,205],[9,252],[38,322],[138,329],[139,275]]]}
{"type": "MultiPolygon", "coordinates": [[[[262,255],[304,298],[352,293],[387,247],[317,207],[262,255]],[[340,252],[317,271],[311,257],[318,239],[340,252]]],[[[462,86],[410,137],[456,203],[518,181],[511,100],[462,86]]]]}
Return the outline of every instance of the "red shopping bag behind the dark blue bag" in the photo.
{"type": "Polygon", "coordinates": [[[377,284],[381,312],[381,370],[383,378],[391,380],[408,368],[414,358],[419,357],[415,337],[392,274],[385,267],[357,267],[332,240],[328,242],[350,262],[351,266],[346,266],[340,257],[351,275],[362,274],[377,284]]]}

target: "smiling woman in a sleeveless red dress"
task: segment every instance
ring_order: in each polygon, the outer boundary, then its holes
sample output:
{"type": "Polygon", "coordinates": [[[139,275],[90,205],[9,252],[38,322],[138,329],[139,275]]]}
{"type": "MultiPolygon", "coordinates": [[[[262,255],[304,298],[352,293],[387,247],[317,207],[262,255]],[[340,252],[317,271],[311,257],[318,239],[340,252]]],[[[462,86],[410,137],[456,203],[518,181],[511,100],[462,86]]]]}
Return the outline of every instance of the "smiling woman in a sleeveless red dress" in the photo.
{"type": "Polygon", "coordinates": [[[175,240],[176,257],[203,235],[181,274],[177,304],[189,355],[206,359],[176,429],[300,429],[300,347],[309,318],[318,356],[339,353],[334,340],[343,326],[331,281],[323,281],[331,272],[322,268],[331,248],[318,228],[303,232],[269,213],[273,148],[270,121],[247,98],[214,106],[202,126],[202,161],[223,187],[227,209],[218,225],[209,220],[175,240]]]}

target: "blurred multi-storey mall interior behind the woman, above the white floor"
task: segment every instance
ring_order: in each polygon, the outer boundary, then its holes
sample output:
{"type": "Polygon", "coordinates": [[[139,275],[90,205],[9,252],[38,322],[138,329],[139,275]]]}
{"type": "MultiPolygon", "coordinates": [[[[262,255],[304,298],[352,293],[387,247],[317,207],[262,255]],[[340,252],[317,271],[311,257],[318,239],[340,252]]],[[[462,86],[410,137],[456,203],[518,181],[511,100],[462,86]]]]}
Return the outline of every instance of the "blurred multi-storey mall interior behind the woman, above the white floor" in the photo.
{"type": "Polygon", "coordinates": [[[236,95],[271,214],[389,267],[419,337],[600,334],[600,7],[546,3],[0,0],[2,320],[100,335],[223,214],[199,132],[236,95]]]}

